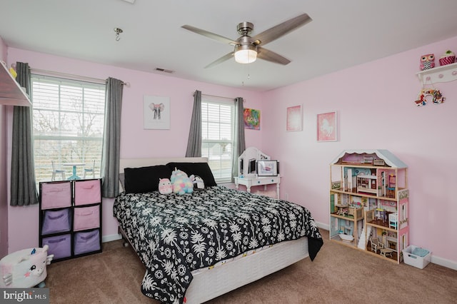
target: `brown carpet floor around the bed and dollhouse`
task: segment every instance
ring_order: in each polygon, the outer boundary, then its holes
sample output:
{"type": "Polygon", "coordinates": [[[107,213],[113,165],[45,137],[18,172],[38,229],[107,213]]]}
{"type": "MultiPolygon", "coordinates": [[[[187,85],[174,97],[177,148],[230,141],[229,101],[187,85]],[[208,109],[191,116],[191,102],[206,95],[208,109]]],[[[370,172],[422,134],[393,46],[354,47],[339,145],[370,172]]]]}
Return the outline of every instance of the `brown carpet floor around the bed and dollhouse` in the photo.
{"type": "MultiPolygon", "coordinates": [[[[457,303],[457,270],[430,263],[418,269],[391,263],[328,240],[316,259],[299,261],[207,302],[226,303],[457,303]]],[[[51,263],[50,303],[159,303],[140,285],[145,268],[121,240],[103,253],[51,263]]]]}

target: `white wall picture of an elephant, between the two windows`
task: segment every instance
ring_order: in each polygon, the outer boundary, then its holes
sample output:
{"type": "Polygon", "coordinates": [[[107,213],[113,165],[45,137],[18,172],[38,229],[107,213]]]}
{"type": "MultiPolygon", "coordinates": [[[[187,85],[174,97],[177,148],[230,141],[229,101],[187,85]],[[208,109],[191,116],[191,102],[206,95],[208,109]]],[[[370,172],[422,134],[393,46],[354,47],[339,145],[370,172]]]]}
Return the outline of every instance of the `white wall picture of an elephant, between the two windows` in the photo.
{"type": "Polygon", "coordinates": [[[143,96],[144,129],[168,130],[170,128],[170,98],[143,96]]]}

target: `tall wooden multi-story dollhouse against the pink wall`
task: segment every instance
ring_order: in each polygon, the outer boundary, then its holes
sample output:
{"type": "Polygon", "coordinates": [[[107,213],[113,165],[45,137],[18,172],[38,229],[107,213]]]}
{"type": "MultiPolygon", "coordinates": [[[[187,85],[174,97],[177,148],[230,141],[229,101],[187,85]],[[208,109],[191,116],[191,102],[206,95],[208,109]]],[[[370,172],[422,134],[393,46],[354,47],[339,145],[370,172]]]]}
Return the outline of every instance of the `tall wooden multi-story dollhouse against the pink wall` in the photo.
{"type": "Polygon", "coordinates": [[[409,232],[407,168],[387,150],[340,153],[330,165],[330,239],[401,263],[409,232]]]}

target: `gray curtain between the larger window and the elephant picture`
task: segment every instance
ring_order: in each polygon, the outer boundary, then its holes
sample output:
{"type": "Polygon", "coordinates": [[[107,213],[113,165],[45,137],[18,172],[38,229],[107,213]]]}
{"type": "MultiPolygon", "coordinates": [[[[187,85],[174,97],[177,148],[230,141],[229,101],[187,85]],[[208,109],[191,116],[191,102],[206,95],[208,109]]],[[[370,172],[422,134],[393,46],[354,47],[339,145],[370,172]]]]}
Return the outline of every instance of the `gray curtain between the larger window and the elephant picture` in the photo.
{"type": "Polygon", "coordinates": [[[101,152],[101,194],[114,198],[119,194],[119,156],[121,149],[121,108],[124,83],[106,80],[105,124],[101,152]]]}

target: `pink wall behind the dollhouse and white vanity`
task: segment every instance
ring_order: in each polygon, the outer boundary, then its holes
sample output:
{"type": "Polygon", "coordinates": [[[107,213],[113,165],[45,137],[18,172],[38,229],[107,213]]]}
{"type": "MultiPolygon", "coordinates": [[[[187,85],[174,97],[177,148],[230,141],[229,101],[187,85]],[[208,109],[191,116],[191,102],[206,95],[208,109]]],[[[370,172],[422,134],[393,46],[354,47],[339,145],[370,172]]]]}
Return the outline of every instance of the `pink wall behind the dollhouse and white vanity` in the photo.
{"type": "Polygon", "coordinates": [[[262,148],[281,161],[281,196],[328,225],[331,161],[345,149],[388,149],[408,165],[410,243],[457,269],[457,82],[435,84],[445,103],[413,103],[421,55],[447,49],[457,51],[457,37],[268,92],[262,148]],[[286,132],[286,108],[299,104],[303,131],[286,132]],[[328,111],[338,112],[339,139],[318,143],[316,115],[328,111]]]}

